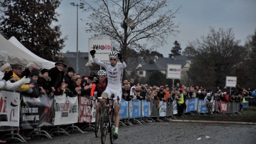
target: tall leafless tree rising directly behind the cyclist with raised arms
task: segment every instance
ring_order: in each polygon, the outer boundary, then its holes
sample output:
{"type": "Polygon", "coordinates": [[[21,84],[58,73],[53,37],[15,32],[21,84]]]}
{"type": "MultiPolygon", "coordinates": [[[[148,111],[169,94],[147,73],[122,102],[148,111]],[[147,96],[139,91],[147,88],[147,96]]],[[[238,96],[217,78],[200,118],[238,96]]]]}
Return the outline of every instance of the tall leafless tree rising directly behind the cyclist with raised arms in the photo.
{"type": "Polygon", "coordinates": [[[84,2],[91,12],[86,32],[94,37],[109,37],[120,45],[124,60],[128,48],[140,49],[144,40],[154,46],[166,44],[166,38],[178,33],[173,19],[179,8],[168,10],[168,0],[94,0],[84,2]]]}

